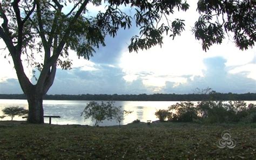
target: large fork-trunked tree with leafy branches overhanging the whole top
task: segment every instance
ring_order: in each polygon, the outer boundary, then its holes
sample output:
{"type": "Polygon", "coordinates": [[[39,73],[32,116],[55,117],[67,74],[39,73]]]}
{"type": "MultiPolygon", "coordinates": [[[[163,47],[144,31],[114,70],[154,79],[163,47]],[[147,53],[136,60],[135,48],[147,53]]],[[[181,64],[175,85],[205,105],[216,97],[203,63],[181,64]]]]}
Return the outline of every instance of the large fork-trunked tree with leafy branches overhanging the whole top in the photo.
{"type": "MultiPolygon", "coordinates": [[[[232,0],[211,2],[199,1],[198,11],[206,14],[199,18],[193,30],[196,38],[203,41],[203,49],[208,49],[213,43],[221,43],[224,30],[234,32],[235,42],[240,49],[253,46],[255,33],[252,17],[255,17],[255,13],[251,5],[247,2],[233,4],[232,0]],[[224,15],[227,15],[227,20],[223,24],[211,23],[212,17],[224,15]]],[[[57,66],[71,68],[72,63],[68,59],[70,49],[75,50],[78,57],[89,60],[95,48],[105,46],[106,35],[115,37],[119,28],[130,28],[132,17],[140,32],[131,38],[130,52],[161,45],[164,34],[174,38],[184,30],[184,20],[171,21],[169,15],[174,9],[186,11],[189,7],[180,0],[109,0],[104,1],[105,12],[89,17],[85,14],[89,3],[98,6],[103,2],[5,0],[0,3],[0,38],[12,57],[19,84],[28,99],[28,121],[31,123],[44,122],[43,96],[53,84],[57,66]],[[71,9],[65,8],[66,5],[71,9]],[[119,6],[134,9],[134,15],[127,15],[119,6]],[[161,23],[162,20],[165,23],[161,23]],[[35,58],[38,56],[42,56],[42,60],[35,58]],[[40,71],[36,84],[32,84],[24,72],[25,60],[40,71]]]]}

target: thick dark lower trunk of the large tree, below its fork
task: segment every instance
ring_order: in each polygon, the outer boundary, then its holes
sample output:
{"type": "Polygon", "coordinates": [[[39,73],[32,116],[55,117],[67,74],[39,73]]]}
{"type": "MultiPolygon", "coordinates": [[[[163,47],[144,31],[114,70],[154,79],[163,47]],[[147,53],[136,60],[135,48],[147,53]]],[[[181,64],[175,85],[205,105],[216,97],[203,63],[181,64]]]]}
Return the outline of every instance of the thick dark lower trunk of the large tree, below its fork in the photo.
{"type": "Polygon", "coordinates": [[[29,103],[29,118],[30,123],[44,123],[43,96],[30,94],[28,97],[29,103]]]}

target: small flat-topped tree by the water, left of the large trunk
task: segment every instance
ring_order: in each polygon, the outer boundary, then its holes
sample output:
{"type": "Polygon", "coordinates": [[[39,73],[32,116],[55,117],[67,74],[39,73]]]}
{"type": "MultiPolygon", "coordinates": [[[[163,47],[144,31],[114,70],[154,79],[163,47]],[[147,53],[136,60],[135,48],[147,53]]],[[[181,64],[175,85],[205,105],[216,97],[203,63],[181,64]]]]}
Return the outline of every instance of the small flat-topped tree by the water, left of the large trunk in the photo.
{"type": "Polygon", "coordinates": [[[5,115],[11,117],[11,120],[14,119],[15,115],[23,116],[28,114],[28,110],[25,110],[22,107],[6,107],[2,111],[5,115]]]}

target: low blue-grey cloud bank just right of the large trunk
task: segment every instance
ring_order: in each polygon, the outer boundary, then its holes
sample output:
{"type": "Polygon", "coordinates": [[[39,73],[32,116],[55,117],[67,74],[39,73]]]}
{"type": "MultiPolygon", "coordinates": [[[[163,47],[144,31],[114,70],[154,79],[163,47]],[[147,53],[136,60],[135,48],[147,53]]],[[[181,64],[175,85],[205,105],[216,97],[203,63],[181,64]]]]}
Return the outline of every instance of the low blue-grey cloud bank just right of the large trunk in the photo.
{"type": "Polygon", "coordinates": [[[98,66],[97,70],[57,70],[48,94],[140,94],[150,93],[141,79],[126,82],[119,68],[98,66]]]}

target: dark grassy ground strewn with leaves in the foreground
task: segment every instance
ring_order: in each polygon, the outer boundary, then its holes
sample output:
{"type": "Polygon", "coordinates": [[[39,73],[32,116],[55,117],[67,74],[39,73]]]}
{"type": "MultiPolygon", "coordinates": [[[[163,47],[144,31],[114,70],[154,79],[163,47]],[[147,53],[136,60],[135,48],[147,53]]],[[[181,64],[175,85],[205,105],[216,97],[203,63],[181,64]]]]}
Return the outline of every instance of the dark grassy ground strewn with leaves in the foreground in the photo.
{"type": "Polygon", "coordinates": [[[254,159],[255,126],[164,122],[118,128],[0,121],[0,159],[254,159]],[[235,148],[217,147],[224,130],[237,142],[235,148]]]}

